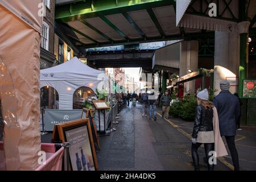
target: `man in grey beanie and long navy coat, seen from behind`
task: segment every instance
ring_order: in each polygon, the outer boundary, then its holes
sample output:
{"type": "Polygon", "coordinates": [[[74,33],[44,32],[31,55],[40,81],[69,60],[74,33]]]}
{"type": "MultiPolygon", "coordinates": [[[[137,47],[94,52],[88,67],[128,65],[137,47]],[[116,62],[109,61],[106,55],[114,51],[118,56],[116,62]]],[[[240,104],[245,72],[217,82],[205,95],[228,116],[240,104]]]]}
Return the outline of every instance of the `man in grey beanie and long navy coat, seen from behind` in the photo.
{"type": "Polygon", "coordinates": [[[218,119],[220,121],[220,133],[224,136],[230,154],[232,156],[232,162],[234,170],[239,171],[238,152],[235,144],[236,137],[236,122],[240,117],[240,104],[236,96],[229,92],[229,81],[221,81],[221,92],[218,96],[213,98],[213,104],[218,111],[218,119]]]}

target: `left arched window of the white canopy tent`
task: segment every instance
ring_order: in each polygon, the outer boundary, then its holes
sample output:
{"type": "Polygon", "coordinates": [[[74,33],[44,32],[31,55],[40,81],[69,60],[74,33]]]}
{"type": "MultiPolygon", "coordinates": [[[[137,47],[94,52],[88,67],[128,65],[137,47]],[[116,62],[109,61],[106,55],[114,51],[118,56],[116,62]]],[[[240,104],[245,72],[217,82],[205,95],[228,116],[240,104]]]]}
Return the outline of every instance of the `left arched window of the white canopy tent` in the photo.
{"type": "Polygon", "coordinates": [[[51,86],[41,88],[40,98],[41,109],[59,109],[59,94],[51,86]]]}

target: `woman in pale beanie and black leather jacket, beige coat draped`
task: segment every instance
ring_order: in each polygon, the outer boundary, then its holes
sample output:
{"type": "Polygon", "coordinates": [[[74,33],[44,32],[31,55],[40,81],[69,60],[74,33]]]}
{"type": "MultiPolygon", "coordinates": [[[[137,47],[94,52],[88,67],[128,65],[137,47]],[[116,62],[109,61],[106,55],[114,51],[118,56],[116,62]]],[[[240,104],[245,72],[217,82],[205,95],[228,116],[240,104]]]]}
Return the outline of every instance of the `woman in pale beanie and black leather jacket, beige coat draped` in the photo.
{"type": "Polygon", "coordinates": [[[204,144],[208,171],[213,171],[214,169],[213,161],[209,160],[213,155],[211,153],[212,151],[215,150],[216,157],[228,155],[220,136],[217,110],[208,100],[209,93],[207,89],[197,93],[198,106],[196,107],[191,146],[191,155],[195,171],[200,171],[197,150],[201,144],[204,144]]]}

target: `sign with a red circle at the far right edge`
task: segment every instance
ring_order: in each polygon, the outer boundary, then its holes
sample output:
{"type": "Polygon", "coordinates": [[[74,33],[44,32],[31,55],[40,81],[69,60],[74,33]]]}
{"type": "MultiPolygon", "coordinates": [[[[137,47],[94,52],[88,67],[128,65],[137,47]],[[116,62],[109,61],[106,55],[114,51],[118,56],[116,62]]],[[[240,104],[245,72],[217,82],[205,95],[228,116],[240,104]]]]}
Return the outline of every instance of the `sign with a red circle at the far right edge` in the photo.
{"type": "Polygon", "coordinates": [[[256,80],[243,80],[243,98],[256,98],[256,80]]]}

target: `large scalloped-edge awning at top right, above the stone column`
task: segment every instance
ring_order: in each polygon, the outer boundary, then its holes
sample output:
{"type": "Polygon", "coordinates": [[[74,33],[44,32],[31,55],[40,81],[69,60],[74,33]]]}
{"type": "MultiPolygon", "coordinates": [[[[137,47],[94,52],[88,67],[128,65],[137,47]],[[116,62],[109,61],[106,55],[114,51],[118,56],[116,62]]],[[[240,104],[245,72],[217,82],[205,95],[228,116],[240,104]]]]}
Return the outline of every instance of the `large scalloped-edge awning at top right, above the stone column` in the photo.
{"type": "MultiPolygon", "coordinates": [[[[213,2],[213,1],[212,1],[213,2]]],[[[239,1],[216,3],[217,16],[210,17],[208,1],[177,1],[176,24],[179,27],[208,31],[234,31],[239,21],[239,1]]]]}

